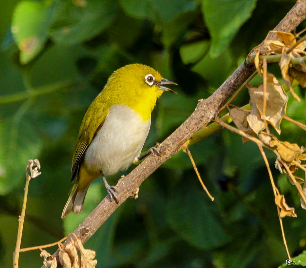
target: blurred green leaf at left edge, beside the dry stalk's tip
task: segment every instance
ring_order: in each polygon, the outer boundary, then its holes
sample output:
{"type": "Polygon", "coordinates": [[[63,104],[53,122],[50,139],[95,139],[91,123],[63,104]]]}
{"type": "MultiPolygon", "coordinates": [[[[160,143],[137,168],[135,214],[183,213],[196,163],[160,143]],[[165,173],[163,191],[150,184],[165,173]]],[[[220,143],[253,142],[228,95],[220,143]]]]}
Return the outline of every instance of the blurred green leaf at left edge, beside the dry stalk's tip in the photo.
{"type": "Polygon", "coordinates": [[[0,122],[0,195],[25,183],[28,159],[38,158],[42,147],[30,120],[17,122],[16,116],[0,122]]]}

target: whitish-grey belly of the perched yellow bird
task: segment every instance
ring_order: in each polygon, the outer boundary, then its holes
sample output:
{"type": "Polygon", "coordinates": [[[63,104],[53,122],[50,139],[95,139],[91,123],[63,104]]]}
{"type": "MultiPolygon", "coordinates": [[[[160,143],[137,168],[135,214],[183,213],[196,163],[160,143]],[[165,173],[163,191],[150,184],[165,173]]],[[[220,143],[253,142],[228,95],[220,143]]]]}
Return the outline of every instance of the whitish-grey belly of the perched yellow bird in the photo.
{"type": "Polygon", "coordinates": [[[150,130],[151,119],[125,105],[113,105],[88,149],[84,161],[89,171],[112,175],[127,169],[141,149],[150,130]]]}

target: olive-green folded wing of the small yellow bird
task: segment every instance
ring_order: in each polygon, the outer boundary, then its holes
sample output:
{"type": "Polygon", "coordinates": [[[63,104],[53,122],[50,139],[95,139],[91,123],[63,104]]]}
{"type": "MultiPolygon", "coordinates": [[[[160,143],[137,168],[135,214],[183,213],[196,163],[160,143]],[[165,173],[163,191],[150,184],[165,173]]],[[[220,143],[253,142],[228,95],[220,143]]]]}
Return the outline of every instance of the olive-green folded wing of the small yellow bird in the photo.
{"type": "Polygon", "coordinates": [[[76,146],[72,158],[71,181],[76,177],[80,163],[84,157],[86,149],[91,144],[91,141],[103,126],[106,116],[109,113],[109,107],[101,100],[101,93],[89,106],[83,121],[81,123],[79,137],[76,141],[76,146]]]}

